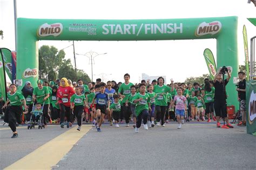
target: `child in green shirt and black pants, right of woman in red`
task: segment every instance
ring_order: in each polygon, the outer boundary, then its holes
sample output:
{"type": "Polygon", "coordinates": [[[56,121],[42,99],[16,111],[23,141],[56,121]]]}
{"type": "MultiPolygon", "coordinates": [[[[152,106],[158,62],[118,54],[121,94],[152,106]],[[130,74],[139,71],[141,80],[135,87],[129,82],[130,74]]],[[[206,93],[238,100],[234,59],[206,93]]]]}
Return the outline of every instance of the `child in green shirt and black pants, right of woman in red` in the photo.
{"type": "Polygon", "coordinates": [[[82,89],[76,86],[76,94],[73,94],[70,99],[70,108],[74,109],[73,112],[77,118],[77,130],[81,130],[82,125],[82,114],[84,113],[85,96],[81,93],[82,89]]]}

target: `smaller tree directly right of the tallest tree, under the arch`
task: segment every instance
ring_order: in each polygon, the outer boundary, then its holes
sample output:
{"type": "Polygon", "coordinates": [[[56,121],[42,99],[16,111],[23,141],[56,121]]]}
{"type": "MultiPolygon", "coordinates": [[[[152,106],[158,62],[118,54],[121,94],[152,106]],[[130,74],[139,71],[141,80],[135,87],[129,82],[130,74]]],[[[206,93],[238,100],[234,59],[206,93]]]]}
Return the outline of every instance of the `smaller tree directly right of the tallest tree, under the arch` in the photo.
{"type": "Polygon", "coordinates": [[[62,65],[59,67],[58,78],[61,79],[63,77],[72,81],[77,80],[76,71],[73,69],[70,59],[64,59],[62,65]]]}

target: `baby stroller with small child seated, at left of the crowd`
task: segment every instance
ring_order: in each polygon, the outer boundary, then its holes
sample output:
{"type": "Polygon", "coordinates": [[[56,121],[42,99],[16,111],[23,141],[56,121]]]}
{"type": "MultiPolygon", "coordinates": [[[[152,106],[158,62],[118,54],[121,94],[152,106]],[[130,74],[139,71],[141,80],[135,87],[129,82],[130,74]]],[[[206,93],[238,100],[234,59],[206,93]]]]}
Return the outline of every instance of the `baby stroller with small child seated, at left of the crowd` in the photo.
{"type": "Polygon", "coordinates": [[[44,108],[44,104],[42,105],[40,111],[36,111],[35,105],[33,104],[32,111],[30,112],[31,117],[30,117],[30,121],[28,124],[28,130],[35,128],[35,125],[38,125],[38,129],[45,128],[44,120],[43,120],[43,108],[44,108]]]}

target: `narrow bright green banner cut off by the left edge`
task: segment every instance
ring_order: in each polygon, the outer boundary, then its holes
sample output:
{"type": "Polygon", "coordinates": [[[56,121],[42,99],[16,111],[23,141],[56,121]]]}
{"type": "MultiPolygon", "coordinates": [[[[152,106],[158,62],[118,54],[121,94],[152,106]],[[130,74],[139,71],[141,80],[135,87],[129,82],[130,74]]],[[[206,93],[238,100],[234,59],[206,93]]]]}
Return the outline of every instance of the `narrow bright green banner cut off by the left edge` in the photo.
{"type": "Polygon", "coordinates": [[[3,56],[2,51],[0,49],[0,98],[3,97],[3,99],[6,101],[6,81],[5,81],[5,71],[4,71],[4,62],[3,62],[3,56]]]}

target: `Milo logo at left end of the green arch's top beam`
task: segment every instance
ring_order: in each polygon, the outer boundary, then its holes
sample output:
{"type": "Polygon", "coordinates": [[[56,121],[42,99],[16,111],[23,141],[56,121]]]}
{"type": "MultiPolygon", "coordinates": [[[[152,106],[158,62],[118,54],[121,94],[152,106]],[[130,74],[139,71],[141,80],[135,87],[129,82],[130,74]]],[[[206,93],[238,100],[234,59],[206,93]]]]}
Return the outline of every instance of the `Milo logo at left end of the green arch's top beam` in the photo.
{"type": "Polygon", "coordinates": [[[62,33],[63,25],[61,23],[48,24],[45,23],[41,25],[37,31],[37,35],[39,37],[47,37],[47,36],[58,36],[62,33]]]}

